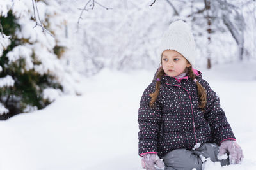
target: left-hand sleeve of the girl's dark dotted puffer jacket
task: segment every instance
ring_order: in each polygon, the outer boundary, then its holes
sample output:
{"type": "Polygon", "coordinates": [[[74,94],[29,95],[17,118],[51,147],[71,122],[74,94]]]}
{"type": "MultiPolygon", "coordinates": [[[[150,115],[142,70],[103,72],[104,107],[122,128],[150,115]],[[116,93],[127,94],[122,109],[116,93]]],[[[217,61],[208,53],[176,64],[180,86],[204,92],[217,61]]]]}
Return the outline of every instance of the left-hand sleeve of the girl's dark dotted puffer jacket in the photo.
{"type": "Polygon", "coordinates": [[[151,83],[143,92],[140,100],[140,108],[138,110],[140,156],[143,155],[143,153],[157,153],[157,136],[161,122],[161,107],[159,104],[159,96],[154,103],[154,107],[150,108],[149,106],[151,99],[149,94],[154,91],[155,83],[151,83]]]}

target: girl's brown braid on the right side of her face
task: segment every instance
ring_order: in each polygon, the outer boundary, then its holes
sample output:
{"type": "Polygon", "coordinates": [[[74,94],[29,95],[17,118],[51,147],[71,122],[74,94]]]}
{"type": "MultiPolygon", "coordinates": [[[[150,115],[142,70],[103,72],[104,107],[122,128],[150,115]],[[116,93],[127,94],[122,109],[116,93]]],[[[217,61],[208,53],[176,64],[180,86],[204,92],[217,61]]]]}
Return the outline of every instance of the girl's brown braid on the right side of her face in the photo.
{"type": "MultiPolygon", "coordinates": [[[[192,66],[188,67],[188,74],[189,74],[189,76],[191,77],[192,80],[195,79],[195,74],[192,71],[192,66]]],[[[205,107],[205,104],[206,104],[207,94],[205,92],[204,87],[198,81],[196,81],[196,85],[197,85],[197,90],[198,90],[198,98],[199,98],[199,101],[200,101],[199,108],[204,110],[204,107],[205,107]]]]}

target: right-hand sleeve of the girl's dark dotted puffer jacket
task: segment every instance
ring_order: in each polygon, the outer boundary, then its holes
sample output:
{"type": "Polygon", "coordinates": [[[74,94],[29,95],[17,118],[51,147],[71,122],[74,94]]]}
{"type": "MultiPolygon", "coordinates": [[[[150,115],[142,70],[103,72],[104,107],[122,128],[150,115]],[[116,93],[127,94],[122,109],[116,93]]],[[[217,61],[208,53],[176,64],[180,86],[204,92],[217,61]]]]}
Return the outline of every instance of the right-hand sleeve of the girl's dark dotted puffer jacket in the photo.
{"type": "Polygon", "coordinates": [[[207,92],[207,103],[205,106],[204,118],[209,122],[214,142],[220,143],[225,140],[236,140],[230,124],[223,109],[220,106],[220,98],[216,95],[209,83],[204,82],[204,88],[207,92]]]}

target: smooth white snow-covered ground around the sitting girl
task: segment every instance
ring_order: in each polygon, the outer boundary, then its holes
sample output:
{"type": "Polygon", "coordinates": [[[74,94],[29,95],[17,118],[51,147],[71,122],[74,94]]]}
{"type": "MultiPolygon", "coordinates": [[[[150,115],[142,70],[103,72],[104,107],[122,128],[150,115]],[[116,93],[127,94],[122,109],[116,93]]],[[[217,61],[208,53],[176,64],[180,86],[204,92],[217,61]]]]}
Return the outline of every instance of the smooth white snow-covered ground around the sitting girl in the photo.
{"type": "MultiPolygon", "coordinates": [[[[256,169],[255,64],[196,68],[220,95],[244,152],[239,165],[207,162],[206,170],[256,169]]],[[[138,107],[155,71],[104,69],[92,78],[81,77],[83,96],[63,96],[44,110],[1,121],[0,169],[141,169],[138,107]]]]}

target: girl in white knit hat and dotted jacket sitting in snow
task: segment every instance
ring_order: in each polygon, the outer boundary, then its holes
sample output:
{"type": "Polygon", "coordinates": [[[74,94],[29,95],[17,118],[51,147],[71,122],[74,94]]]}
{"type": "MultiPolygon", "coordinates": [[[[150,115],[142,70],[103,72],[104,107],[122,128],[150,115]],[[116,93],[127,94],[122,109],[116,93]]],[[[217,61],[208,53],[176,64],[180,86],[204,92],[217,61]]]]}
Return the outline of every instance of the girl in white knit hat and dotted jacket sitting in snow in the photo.
{"type": "Polygon", "coordinates": [[[195,41],[186,22],[170,24],[159,46],[161,67],[138,110],[139,155],[145,169],[202,169],[243,159],[220,99],[193,69],[195,41]],[[229,159],[228,159],[229,158],[229,159]]]}

